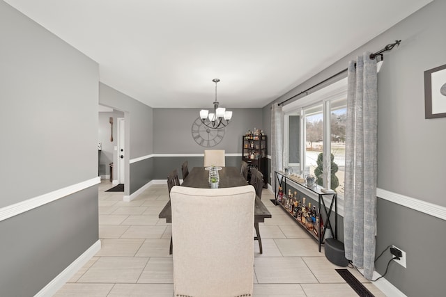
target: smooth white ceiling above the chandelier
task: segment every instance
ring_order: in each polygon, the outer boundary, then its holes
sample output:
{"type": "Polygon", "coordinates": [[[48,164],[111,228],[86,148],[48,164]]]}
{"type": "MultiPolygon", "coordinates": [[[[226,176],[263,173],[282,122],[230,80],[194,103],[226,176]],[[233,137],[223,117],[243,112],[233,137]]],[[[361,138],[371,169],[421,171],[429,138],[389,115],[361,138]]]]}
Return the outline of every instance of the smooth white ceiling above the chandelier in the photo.
{"type": "Polygon", "coordinates": [[[210,108],[215,78],[220,106],[261,108],[431,2],[5,1],[154,108],[210,108]]]}

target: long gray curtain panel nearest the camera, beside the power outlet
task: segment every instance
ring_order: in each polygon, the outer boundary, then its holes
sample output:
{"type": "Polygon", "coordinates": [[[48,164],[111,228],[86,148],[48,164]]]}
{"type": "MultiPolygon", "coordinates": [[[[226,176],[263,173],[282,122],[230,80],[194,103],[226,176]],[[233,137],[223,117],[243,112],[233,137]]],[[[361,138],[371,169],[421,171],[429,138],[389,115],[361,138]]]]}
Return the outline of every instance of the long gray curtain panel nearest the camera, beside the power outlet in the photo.
{"type": "Polygon", "coordinates": [[[346,258],[374,272],[376,235],[376,179],[378,77],[370,53],[348,64],[344,246],[346,258]],[[356,66],[356,67],[355,67],[356,66]]]}

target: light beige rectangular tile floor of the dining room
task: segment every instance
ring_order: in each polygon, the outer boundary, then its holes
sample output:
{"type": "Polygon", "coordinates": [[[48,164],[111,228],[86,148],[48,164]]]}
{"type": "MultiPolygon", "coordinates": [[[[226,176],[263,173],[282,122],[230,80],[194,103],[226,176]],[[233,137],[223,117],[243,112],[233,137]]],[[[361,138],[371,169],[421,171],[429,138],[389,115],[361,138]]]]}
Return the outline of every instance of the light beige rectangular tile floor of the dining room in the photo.
{"type": "MultiPolygon", "coordinates": [[[[174,294],[173,262],[169,255],[171,226],[158,214],[169,200],[167,185],[155,184],[132,202],[122,192],[99,186],[99,237],[102,249],[54,296],[156,296],[174,294]]],[[[263,254],[254,242],[254,296],[357,296],[334,270],[324,252],[305,230],[270,199],[262,200],[272,218],[260,224],[263,254]]],[[[375,296],[385,296],[353,268],[351,273],[375,296]]]]}

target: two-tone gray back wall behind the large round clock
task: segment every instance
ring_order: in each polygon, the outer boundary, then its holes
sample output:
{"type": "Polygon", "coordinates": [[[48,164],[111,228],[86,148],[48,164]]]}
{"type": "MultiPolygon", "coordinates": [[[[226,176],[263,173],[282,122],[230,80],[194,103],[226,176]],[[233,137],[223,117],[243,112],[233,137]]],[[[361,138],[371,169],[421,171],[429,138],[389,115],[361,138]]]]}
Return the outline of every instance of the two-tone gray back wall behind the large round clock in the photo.
{"type": "MultiPolygon", "coordinates": [[[[232,120],[226,127],[222,142],[209,149],[225,150],[226,166],[240,166],[242,160],[242,136],[249,130],[263,129],[262,109],[231,109],[232,120]]],[[[206,147],[201,147],[192,138],[192,123],[199,118],[200,109],[153,109],[153,137],[156,139],[155,154],[203,154],[206,147]]],[[[203,166],[202,156],[157,156],[153,160],[153,178],[166,179],[171,170],[178,169],[181,164],[189,163],[189,170],[203,166]]]]}

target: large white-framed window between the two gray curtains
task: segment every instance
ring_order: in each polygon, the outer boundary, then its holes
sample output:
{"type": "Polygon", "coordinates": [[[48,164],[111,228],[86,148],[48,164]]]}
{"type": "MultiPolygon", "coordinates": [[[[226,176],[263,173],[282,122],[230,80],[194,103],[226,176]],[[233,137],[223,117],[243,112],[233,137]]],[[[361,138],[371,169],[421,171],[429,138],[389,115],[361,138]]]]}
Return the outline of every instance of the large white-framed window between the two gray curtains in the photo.
{"type": "Polygon", "coordinates": [[[344,197],[346,79],[284,106],[284,166],[344,197]]]}

